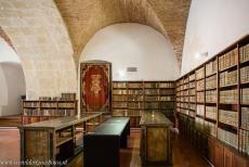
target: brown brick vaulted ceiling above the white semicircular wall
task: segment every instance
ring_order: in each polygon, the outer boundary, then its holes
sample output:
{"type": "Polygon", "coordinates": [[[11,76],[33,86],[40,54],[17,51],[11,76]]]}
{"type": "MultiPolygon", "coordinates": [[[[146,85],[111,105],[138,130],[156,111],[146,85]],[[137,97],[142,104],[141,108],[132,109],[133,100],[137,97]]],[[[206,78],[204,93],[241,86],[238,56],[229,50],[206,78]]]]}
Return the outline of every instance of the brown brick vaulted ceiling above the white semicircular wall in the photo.
{"type": "Polygon", "coordinates": [[[148,25],[172,43],[181,66],[191,0],[54,0],[68,29],[78,63],[90,38],[116,23],[148,25]]]}

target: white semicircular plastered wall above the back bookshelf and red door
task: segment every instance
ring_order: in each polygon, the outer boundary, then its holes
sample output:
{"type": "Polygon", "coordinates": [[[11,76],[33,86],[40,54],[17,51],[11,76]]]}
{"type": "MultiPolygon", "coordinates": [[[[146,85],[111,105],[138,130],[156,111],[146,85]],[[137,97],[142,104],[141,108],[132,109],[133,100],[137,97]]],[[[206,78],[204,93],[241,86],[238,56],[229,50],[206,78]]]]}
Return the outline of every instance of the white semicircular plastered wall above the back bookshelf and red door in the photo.
{"type": "Polygon", "coordinates": [[[149,26],[124,23],[99,30],[84,47],[80,62],[113,64],[113,80],[174,80],[180,75],[171,43],[149,26]],[[126,72],[137,67],[137,72],[126,72]]]}

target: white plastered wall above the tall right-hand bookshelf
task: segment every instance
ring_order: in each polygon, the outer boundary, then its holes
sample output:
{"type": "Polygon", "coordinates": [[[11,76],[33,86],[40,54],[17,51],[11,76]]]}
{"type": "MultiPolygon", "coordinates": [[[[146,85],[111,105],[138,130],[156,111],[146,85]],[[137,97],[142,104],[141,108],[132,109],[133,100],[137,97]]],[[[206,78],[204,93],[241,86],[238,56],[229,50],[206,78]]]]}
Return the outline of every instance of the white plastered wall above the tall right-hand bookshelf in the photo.
{"type": "Polygon", "coordinates": [[[181,75],[249,34],[248,0],[192,0],[181,75]],[[197,53],[208,56],[196,59],[197,53]]]}

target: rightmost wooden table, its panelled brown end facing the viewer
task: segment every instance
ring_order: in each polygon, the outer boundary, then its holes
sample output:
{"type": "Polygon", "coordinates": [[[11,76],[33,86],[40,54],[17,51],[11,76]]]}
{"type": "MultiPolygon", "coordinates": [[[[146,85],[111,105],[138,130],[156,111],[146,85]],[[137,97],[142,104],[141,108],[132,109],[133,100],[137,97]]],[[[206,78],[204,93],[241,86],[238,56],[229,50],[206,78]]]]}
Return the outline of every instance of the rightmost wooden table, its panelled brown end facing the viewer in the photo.
{"type": "Polygon", "coordinates": [[[171,166],[172,123],[159,112],[143,112],[141,121],[141,158],[143,166],[171,166]]]}

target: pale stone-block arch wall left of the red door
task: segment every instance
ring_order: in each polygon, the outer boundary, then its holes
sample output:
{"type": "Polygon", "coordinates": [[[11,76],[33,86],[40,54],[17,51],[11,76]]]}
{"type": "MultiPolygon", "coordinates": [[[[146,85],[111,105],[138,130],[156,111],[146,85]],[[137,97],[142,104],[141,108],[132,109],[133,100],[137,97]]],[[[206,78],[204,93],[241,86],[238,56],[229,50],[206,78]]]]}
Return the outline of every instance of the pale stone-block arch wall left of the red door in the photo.
{"type": "Polygon", "coordinates": [[[52,0],[0,0],[0,25],[22,61],[28,99],[76,92],[73,48],[52,0]]]}

